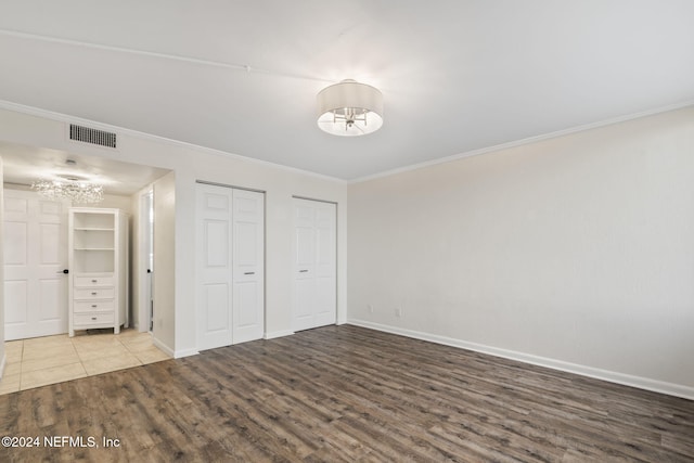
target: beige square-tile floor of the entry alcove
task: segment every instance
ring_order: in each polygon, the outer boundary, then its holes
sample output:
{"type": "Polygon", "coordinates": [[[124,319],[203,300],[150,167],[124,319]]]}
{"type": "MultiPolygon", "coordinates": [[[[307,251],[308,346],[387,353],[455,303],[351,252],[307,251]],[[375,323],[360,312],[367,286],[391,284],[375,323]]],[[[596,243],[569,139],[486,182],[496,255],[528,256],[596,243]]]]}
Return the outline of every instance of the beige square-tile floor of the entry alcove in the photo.
{"type": "Polygon", "coordinates": [[[79,332],[10,340],[0,394],[10,394],[78,377],[123,370],[170,357],[152,344],[150,333],[124,330],[120,334],[79,332]]]}

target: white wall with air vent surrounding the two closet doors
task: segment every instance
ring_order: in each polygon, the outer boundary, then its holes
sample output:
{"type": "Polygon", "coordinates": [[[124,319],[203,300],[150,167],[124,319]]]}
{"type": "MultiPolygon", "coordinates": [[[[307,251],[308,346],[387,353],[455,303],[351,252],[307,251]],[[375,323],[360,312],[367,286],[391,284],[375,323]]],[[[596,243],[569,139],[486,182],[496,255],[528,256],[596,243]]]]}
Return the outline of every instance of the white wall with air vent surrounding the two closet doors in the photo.
{"type": "MultiPolygon", "coordinates": [[[[5,105],[8,106],[8,105],[5,105]]],[[[0,140],[65,150],[75,154],[111,157],[175,171],[176,243],[175,320],[158,333],[172,339],[167,346],[178,356],[196,351],[195,333],[195,181],[204,180],[266,192],[266,333],[268,337],[291,333],[292,300],[292,196],[338,203],[338,320],[346,320],[346,198],[344,182],[297,170],[258,163],[234,155],[139,136],[113,127],[69,119],[29,108],[0,108],[0,140]],[[16,111],[15,111],[16,110],[16,111]],[[31,113],[31,114],[29,114],[31,113]],[[65,139],[65,123],[74,121],[118,133],[113,152],[65,139]],[[164,332],[168,330],[167,332],[164,332]]],[[[286,153],[291,156],[292,153],[286,153]]]]}

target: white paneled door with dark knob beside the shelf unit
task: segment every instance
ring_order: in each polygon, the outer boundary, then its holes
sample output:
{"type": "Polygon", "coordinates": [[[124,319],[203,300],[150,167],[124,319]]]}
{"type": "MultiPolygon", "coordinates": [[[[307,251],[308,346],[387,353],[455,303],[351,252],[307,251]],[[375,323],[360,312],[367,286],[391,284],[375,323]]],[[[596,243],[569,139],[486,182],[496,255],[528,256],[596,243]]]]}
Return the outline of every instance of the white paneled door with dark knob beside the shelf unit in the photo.
{"type": "Polygon", "coordinates": [[[67,209],[4,191],[5,340],[67,333],[67,209]]]}

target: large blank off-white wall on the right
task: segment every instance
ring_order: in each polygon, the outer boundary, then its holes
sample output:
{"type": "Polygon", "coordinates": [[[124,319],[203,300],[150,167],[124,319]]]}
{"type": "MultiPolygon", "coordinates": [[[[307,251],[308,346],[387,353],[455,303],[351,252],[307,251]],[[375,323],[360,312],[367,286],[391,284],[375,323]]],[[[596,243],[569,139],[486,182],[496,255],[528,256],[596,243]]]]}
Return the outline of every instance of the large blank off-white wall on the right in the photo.
{"type": "Polygon", "coordinates": [[[694,398],[694,107],[348,202],[351,322],[694,398]]]}

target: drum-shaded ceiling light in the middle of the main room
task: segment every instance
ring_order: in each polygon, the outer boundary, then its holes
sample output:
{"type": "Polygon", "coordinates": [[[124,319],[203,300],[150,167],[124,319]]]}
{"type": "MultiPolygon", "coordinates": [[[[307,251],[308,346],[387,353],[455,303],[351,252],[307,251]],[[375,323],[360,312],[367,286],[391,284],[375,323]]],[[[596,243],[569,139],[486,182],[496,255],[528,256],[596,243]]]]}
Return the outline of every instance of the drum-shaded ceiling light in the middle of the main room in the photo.
{"type": "Polygon", "coordinates": [[[375,132],[383,125],[383,94],[365,83],[346,79],[318,93],[318,127],[334,136],[375,132]]]}

